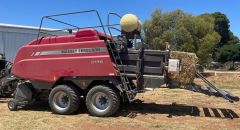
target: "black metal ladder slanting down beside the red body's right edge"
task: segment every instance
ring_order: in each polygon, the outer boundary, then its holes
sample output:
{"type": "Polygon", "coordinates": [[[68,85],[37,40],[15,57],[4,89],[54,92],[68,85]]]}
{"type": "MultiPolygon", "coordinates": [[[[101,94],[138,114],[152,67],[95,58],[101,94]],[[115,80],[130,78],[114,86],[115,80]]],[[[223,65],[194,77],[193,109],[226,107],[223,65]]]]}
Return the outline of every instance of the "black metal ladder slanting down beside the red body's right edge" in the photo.
{"type": "Polygon", "coordinates": [[[110,51],[112,53],[113,60],[114,60],[114,62],[116,64],[116,67],[117,67],[119,73],[120,73],[120,79],[121,79],[123,88],[124,88],[124,90],[126,92],[127,98],[129,100],[129,102],[132,102],[132,101],[134,101],[134,97],[136,95],[136,91],[132,88],[132,86],[130,84],[130,81],[129,81],[127,75],[126,75],[125,68],[123,67],[123,73],[121,73],[121,71],[120,71],[119,65],[123,66],[123,62],[121,60],[119,51],[117,50],[116,45],[115,45],[114,42],[107,41],[107,44],[109,45],[109,49],[110,49],[110,51]],[[112,45],[114,46],[115,50],[113,50],[112,45]],[[119,64],[118,64],[118,61],[119,61],[119,64]]]}

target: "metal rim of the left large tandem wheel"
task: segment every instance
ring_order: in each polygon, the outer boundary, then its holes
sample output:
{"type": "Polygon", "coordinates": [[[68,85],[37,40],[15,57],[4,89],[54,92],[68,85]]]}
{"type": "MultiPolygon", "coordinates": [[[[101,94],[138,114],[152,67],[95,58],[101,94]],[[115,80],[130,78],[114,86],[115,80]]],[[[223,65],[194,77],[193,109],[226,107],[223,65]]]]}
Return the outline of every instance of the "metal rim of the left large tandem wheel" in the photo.
{"type": "Polygon", "coordinates": [[[53,96],[53,105],[58,110],[65,110],[70,106],[70,99],[69,96],[63,92],[57,92],[53,96]]]}

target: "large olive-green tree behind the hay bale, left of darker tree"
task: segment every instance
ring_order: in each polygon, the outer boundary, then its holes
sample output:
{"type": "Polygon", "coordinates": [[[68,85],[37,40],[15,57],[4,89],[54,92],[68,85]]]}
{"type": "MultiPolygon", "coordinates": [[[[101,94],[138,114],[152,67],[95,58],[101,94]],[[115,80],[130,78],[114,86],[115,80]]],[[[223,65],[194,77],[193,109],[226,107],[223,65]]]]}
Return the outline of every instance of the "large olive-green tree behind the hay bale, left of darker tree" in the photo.
{"type": "Polygon", "coordinates": [[[173,50],[196,53],[202,65],[210,62],[212,50],[220,41],[211,15],[192,16],[181,10],[162,13],[157,9],[143,29],[151,49],[165,49],[165,42],[169,42],[173,50]]]}

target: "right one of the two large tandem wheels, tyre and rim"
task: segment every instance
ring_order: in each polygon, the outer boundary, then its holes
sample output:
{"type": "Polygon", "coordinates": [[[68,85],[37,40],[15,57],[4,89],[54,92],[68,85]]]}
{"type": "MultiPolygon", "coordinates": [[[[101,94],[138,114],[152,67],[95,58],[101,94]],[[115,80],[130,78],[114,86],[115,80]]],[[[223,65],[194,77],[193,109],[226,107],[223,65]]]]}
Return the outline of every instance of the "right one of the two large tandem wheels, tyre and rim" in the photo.
{"type": "Polygon", "coordinates": [[[120,97],[115,90],[105,85],[97,85],[88,92],[86,106],[93,116],[111,116],[119,109],[120,97]]]}

